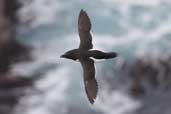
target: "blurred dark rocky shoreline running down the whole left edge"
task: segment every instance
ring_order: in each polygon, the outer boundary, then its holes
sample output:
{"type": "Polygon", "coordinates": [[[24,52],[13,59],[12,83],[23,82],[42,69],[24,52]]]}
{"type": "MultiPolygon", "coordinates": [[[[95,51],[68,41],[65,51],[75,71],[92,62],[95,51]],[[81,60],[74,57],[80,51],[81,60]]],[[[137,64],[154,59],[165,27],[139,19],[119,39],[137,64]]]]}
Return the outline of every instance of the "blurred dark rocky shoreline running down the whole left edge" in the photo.
{"type": "Polygon", "coordinates": [[[21,7],[17,0],[0,0],[0,113],[12,114],[19,95],[13,89],[30,86],[31,80],[13,76],[11,65],[29,60],[30,48],[16,40],[18,23],[16,12],[21,7]],[[4,95],[3,95],[4,94],[4,95]]]}

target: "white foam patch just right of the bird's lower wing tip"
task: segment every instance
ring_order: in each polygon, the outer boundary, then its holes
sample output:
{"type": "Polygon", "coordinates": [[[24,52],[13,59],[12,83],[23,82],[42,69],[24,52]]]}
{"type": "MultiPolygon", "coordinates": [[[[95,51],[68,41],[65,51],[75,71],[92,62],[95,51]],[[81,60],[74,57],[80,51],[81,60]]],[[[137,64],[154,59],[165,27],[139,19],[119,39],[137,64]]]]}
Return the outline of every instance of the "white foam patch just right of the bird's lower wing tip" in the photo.
{"type": "Polygon", "coordinates": [[[101,94],[100,99],[95,103],[95,107],[105,114],[125,114],[141,106],[139,101],[135,101],[121,91],[109,92],[106,89],[101,93],[103,95],[101,94]]]}

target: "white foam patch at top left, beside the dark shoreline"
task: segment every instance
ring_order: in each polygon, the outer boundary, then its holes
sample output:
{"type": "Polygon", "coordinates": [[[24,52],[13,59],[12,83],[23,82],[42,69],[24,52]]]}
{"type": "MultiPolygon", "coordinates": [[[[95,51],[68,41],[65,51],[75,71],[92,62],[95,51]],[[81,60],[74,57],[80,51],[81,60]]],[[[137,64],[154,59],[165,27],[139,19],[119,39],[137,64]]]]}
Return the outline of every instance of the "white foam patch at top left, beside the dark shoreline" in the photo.
{"type": "Polygon", "coordinates": [[[25,3],[20,10],[20,21],[30,22],[30,27],[37,27],[44,24],[56,22],[56,15],[61,11],[62,4],[57,0],[33,0],[25,3]]]}

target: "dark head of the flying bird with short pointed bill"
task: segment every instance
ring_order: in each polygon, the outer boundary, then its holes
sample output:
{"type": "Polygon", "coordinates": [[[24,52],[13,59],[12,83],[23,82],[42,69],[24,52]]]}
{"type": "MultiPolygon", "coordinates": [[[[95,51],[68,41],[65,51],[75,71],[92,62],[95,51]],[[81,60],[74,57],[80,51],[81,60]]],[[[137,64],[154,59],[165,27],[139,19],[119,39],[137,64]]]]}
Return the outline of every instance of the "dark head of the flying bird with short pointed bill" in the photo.
{"type": "Polygon", "coordinates": [[[75,56],[76,56],[76,55],[75,55],[74,51],[71,50],[71,51],[68,51],[68,52],[64,53],[64,54],[61,55],[60,57],[61,57],[61,58],[66,58],[66,59],[72,59],[72,60],[76,61],[77,58],[76,58],[75,56]]]}

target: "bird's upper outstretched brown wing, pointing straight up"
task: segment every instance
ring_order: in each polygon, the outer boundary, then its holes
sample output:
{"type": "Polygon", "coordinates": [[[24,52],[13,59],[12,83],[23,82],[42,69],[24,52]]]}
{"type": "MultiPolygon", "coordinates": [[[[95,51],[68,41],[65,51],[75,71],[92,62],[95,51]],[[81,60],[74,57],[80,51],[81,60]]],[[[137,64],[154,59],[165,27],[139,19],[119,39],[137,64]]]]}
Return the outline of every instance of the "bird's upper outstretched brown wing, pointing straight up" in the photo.
{"type": "Polygon", "coordinates": [[[90,34],[91,22],[84,10],[80,11],[78,17],[78,32],[80,36],[80,49],[89,50],[93,48],[92,36],[90,34]]]}

